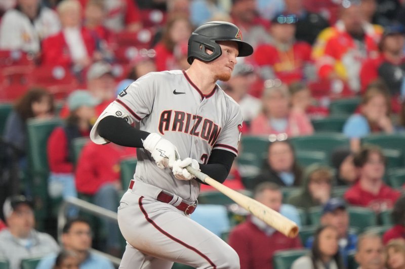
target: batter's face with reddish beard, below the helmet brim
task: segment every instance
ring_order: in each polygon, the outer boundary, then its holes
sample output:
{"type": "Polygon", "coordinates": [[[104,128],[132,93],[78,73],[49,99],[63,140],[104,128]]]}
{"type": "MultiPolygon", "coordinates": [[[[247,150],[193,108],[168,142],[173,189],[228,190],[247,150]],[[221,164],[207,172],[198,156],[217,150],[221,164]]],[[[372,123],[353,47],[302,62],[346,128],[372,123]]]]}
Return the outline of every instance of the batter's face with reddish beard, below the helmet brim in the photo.
{"type": "Polygon", "coordinates": [[[239,54],[237,43],[234,41],[218,41],[222,54],[212,62],[208,62],[214,73],[215,80],[228,81],[233,68],[237,63],[236,57],[239,54]]]}

